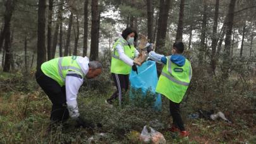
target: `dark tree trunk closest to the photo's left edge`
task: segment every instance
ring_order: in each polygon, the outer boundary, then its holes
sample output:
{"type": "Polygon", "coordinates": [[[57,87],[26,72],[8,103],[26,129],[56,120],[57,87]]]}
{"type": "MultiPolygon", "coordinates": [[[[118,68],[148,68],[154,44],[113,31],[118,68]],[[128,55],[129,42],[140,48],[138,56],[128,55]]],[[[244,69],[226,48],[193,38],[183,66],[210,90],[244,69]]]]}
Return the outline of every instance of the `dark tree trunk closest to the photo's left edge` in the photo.
{"type": "Polygon", "coordinates": [[[4,13],[4,68],[3,71],[9,72],[11,67],[11,16],[13,14],[15,0],[8,0],[5,3],[6,11],[4,13]]]}

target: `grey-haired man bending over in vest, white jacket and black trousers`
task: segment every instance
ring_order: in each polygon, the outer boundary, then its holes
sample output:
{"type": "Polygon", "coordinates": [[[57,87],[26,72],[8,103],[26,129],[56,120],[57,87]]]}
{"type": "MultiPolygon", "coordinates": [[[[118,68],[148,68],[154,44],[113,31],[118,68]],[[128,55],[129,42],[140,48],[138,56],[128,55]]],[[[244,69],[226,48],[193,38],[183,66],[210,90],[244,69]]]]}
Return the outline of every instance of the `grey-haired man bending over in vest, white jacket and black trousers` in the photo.
{"type": "Polygon", "coordinates": [[[58,57],[42,64],[35,78],[52,102],[52,123],[71,117],[76,120],[77,126],[87,127],[80,117],[76,97],[83,80],[94,78],[101,71],[101,63],[81,56],[58,57]]]}

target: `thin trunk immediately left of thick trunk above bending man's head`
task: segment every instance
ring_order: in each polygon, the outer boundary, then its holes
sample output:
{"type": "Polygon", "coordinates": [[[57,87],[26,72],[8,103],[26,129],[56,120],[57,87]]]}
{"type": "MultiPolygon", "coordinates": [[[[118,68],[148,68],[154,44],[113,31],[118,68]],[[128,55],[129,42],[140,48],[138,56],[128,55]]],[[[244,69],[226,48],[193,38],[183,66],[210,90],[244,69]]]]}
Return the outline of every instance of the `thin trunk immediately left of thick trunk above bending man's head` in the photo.
{"type": "Polygon", "coordinates": [[[85,0],[83,15],[83,57],[87,56],[87,38],[88,38],[88,0],[85,0]]]}

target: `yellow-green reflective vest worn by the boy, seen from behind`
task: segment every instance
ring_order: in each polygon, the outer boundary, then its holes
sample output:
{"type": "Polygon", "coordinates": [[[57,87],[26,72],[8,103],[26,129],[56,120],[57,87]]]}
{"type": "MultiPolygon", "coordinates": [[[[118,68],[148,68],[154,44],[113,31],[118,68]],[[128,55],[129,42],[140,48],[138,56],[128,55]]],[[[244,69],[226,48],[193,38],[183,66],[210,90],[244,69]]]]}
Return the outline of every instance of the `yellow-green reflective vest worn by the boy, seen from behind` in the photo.
{"type": "Polygon", "coordinates": [[[184,66],[177,66],[171,62],[171,56],[166,58],[167,64],[162,69],[155,91],[173,102],[180,103],[192,78],[192,67],[188,59],[184,66]]]}

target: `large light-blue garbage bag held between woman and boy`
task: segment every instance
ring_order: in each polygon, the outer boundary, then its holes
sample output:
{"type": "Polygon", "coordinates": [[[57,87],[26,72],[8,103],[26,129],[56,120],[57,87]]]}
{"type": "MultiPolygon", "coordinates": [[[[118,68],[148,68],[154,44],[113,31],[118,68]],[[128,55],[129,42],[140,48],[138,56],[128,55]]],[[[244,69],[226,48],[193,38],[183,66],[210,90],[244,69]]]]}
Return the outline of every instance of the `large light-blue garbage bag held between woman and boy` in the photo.
{"type": "MultiPolygon", "coordinates": [[[[156,111],[161,111],[162,100],[159,93],[155,93],[155,88],[157,86],[157,69],[155,66],[155,61],[146,61],[142,66],[138,66],[138,74],[136,71],[131,71],[129,80],[131,83],[131,88],[142,90],[142,97],[145,95],[147,90],[150,90],[155,94],[154,109],[156,111]]],[[[130,99],[133,99],[133,93],[130,91],[130,99]]]]}

